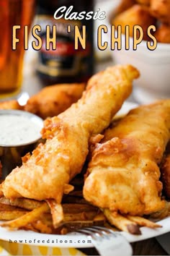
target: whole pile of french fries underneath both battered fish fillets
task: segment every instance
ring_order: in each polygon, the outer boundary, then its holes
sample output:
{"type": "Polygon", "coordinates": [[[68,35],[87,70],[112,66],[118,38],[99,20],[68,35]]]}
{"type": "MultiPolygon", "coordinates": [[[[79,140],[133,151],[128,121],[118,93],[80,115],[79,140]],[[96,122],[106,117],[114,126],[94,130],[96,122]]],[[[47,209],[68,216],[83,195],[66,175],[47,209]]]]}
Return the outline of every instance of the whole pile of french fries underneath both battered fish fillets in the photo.
{"type": "MultiPolygon", "coordinates": [[[[122,216],[109,210],[100,210],[84,200],[82,187],[83,174],[73,179],[74,191],[63,197],[63,223],[55,226],[61,218],[60,207],[53,200],[37,201],[27,198],[7,199],[0,194],[1,226],[8,229],[31,230],[43,234],[67,234],[87,226],[105,226],[109,229],[140,234],[140,226],[160,227],[157,223],[138,216],[122,216]]],[[[164,218],[170,213],[170,204],[166,210],[156,213],[152,218],[164,218]]]]}

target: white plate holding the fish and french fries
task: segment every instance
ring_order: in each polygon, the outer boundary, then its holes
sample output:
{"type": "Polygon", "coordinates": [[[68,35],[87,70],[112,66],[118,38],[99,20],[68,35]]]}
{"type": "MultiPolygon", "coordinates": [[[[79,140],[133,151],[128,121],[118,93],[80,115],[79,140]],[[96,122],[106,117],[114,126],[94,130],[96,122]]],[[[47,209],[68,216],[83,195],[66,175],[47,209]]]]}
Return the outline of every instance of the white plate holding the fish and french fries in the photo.
{"type": "MultiPolygon", "coordinates": [[[[118,114],[126,114],[130,109],[135,108],[135,103],[125,102],[122,109],[118,114]]],[[[151,237],[160,236],[170,231],[170,217],[164,218],[158,221],[162,227],[158,229],[149,229],[146,227],[140,228],[141,235],[132,235],[127,232],[121,232],[129,242],[138,242],[151,237]]],[[[12,242],[20,242],[22,244],[29,245],[41,245],[48,247],[76,247],[76,248],[88,248],[93,247],[93,244],[87,236],[80,234],[67,234],[67,235],[55,235],[55,234],[40,234],[32,231],[9,231],[8,229],[0,227],[0,239],[12,242]],[[21,242],[22,241],[22,242],[21,242]],[[29,242],[30,241],[30,242],[29,242]]]]}

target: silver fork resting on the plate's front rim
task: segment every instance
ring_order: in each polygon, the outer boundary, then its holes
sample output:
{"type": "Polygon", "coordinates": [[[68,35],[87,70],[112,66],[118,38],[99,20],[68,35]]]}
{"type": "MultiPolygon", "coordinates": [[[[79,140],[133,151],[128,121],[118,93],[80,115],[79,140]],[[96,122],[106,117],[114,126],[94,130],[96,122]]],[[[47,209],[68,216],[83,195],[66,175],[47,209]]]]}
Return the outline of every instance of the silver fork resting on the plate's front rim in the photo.
{"type": "Polygon", "coordinates": [[[91,242],[102,256],[132,255],[133,249],[130,243],[120,232],[112,231],[101,226],[79,229],[76,233],[85,234],[91,238],[91,242]]]}

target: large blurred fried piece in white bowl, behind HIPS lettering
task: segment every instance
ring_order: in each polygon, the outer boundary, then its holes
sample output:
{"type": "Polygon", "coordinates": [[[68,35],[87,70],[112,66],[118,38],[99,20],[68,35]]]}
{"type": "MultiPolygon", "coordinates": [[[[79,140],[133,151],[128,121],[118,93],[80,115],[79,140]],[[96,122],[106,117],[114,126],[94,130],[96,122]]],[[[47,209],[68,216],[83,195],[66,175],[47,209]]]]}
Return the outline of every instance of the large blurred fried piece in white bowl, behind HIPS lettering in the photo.
{"type": "MultiPolygon", "coordinates": [[[[112,25],[115,25],[116,28],[118,25],[121,25],[122,33],[124,34],[125,26],[128,25],[130,27],[130,37],[133,37],[133,27],[139,25],[143,28],[143,40],[148,40],[148,27],[156,25],[156,19],[151,16],[148,7],[135,4],[125,12],[115,16],[112,19],[112,25]]],[[[137,35],[139,36],[139,33],[137,35]]]]}

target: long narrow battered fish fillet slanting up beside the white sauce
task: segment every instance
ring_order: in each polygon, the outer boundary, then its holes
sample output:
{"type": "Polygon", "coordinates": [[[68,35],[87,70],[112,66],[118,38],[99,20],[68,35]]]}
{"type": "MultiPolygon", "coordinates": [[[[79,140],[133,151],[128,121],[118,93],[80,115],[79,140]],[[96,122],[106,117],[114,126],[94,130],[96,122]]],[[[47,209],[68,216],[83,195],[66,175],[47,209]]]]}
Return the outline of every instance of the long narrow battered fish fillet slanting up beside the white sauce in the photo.
{"type": "Polygon", "coordinates": [[[77,103],[45,121],[42,135],[47,141],[6,177],[2,184],[4,196],[51,198],[60,203],[63,193],[73,189],[68,183],[86,160],[89,138],[109,125],[138,75],[130,65],[117,65],[91,77],[77,103]]]}

